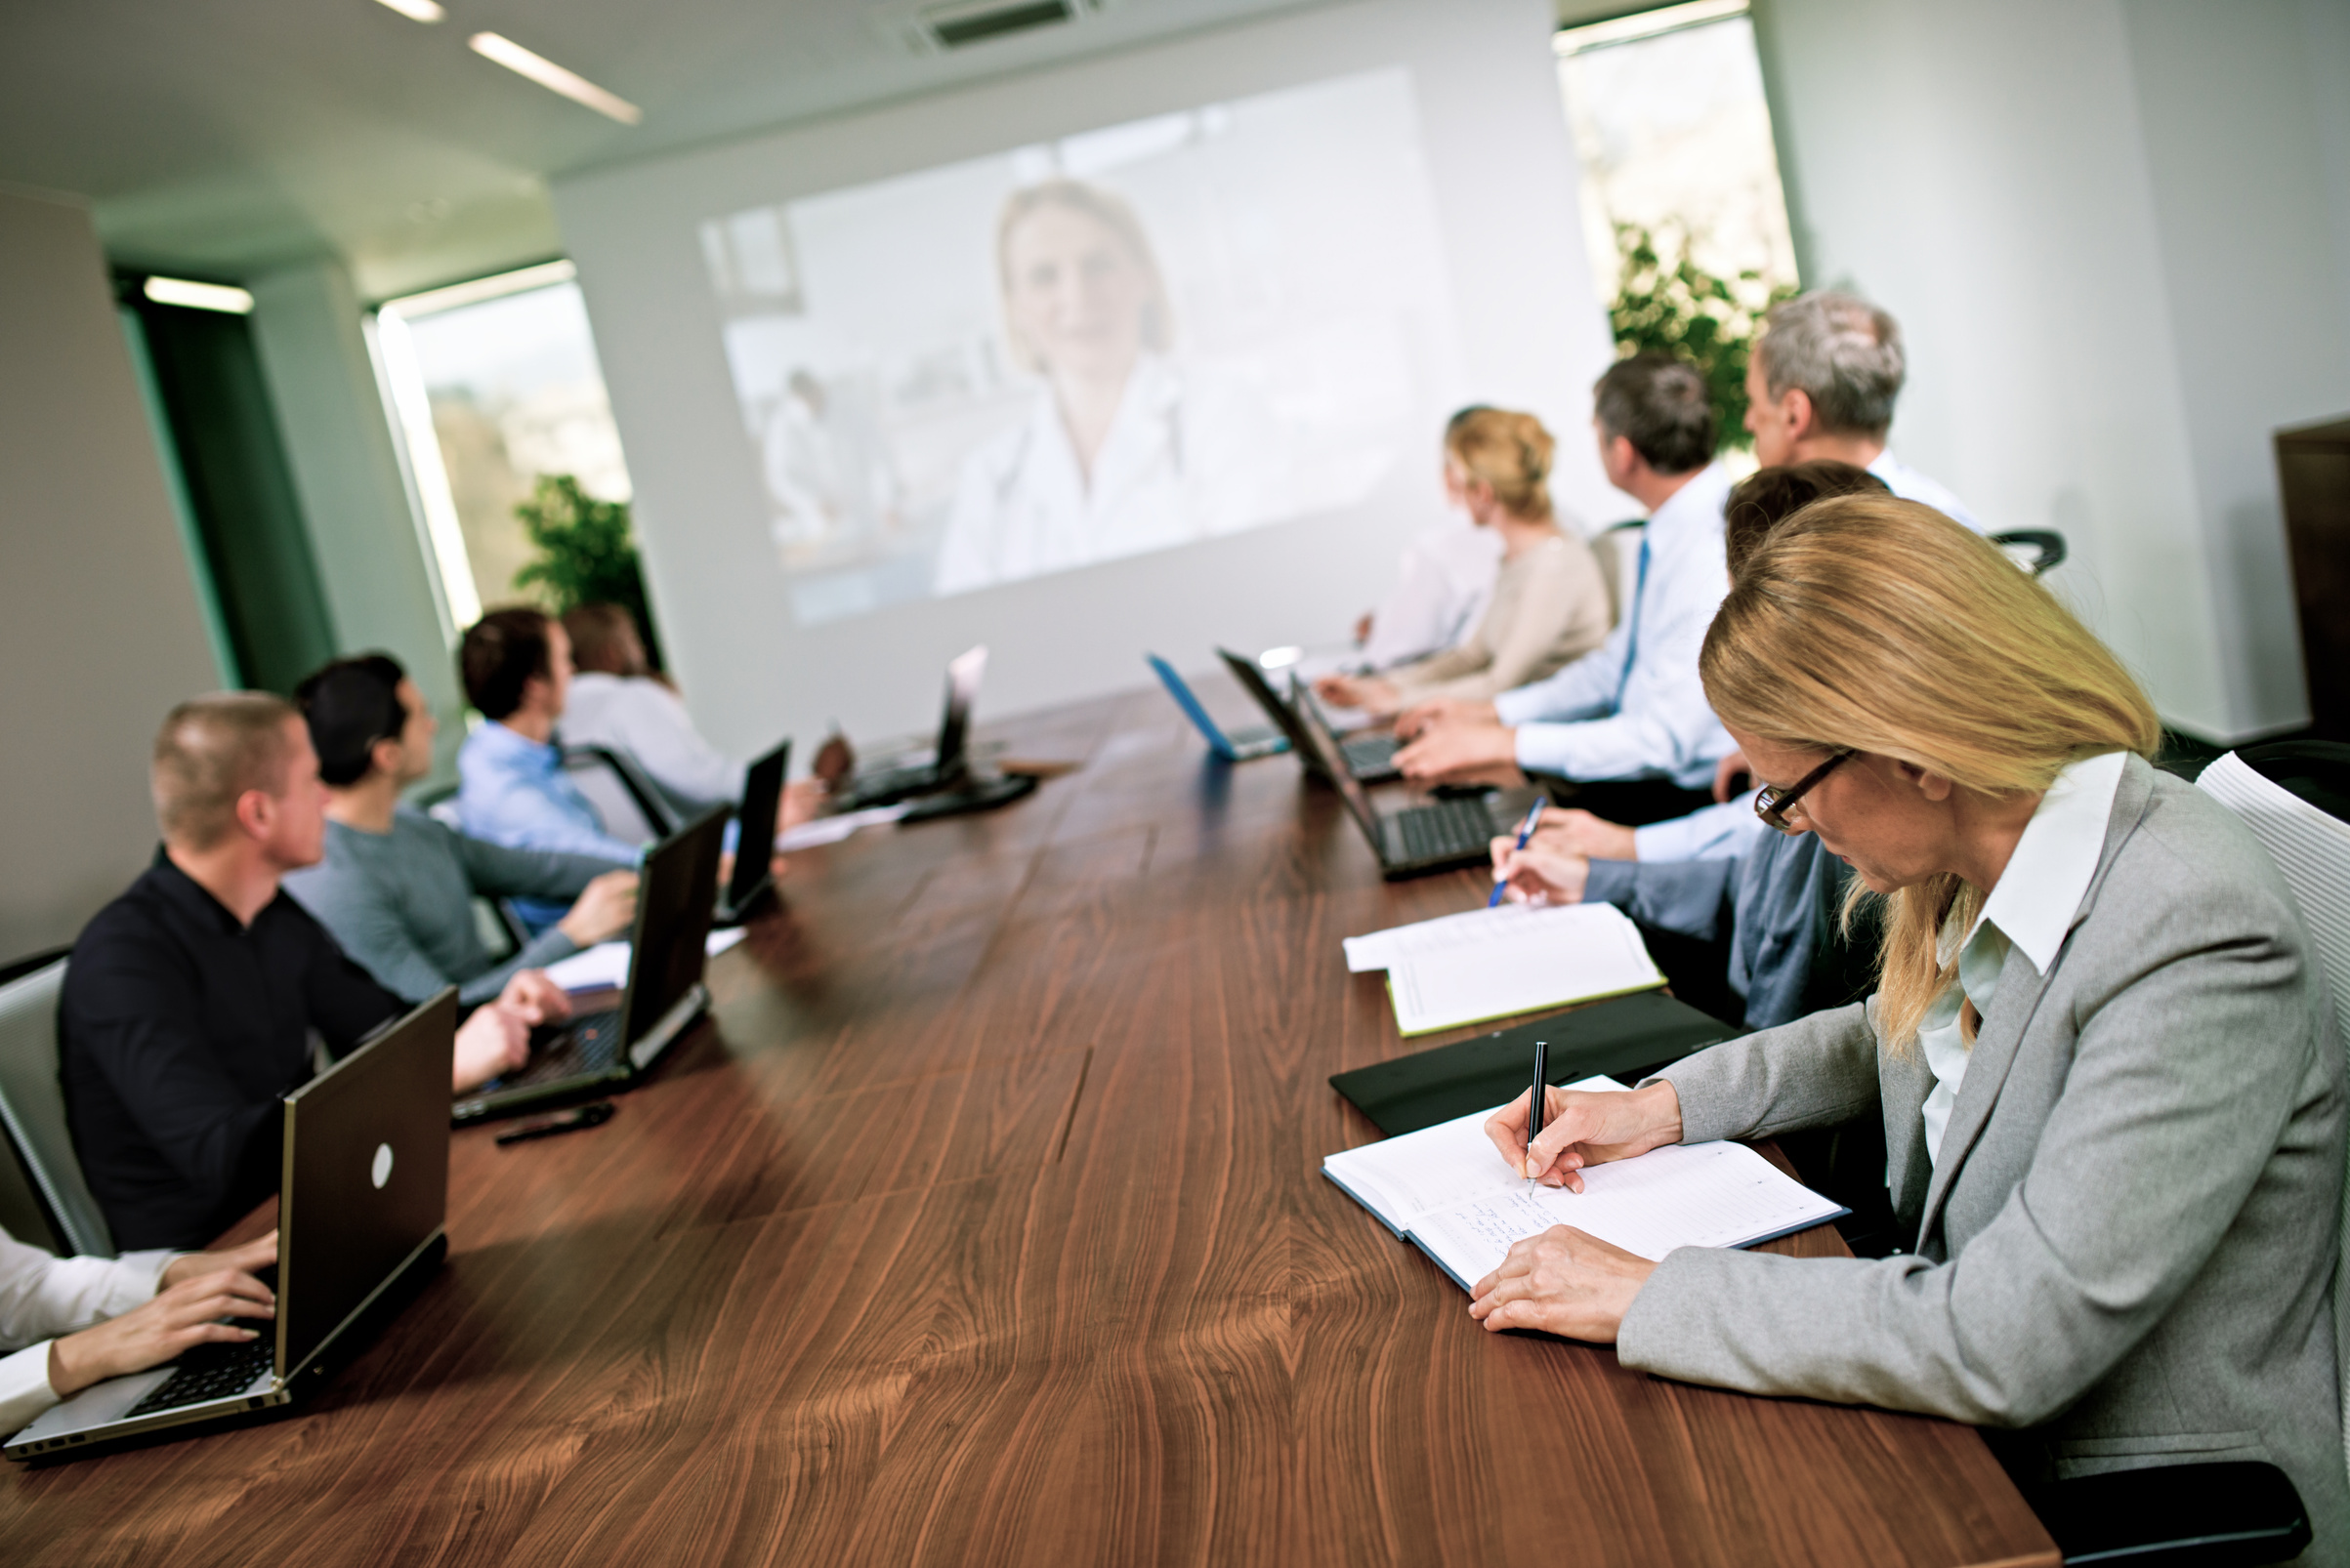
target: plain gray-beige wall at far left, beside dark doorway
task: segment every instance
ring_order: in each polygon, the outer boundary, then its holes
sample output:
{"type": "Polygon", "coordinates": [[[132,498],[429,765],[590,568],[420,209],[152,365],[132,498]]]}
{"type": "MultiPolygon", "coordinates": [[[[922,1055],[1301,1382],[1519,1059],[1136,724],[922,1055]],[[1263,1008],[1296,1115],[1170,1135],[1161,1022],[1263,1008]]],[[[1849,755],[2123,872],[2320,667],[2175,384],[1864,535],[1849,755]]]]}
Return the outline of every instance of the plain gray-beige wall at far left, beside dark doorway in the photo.
{"type": "Polygon", "coordinates": [[[155,853],[148,745],[214,663],[75,205],[0,190],[0,957],[21,957],[155,853]]]}

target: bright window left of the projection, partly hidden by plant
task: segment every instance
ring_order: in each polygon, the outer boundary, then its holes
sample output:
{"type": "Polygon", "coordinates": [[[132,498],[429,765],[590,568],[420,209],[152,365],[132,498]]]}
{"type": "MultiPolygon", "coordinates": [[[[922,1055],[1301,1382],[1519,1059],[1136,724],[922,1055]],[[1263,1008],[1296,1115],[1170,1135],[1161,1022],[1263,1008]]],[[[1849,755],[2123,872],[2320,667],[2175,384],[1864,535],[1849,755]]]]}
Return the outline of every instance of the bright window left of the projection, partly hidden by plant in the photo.
{"type": "Polygon", "coordinates": [[[540,475],[630,498],[569,261],[388,301],[376,348],[456,628],[529,597],[515,588],[533,555],[515,505],[540,475]]]}

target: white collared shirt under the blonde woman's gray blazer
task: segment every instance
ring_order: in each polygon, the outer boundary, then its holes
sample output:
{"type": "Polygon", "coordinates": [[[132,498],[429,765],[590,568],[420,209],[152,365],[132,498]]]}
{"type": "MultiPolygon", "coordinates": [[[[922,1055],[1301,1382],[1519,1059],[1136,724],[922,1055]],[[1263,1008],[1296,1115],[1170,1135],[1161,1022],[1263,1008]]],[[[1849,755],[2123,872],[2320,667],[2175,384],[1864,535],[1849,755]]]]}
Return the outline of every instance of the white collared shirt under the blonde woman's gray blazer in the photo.
{"type": "MultiPolygon", "coordinates": [[[[1958,983],[1943,987],[1918,1023],[1918,1046],[1934,1070],[1934,1091],[1925,1098],[1922,1112],[1927,1164],[1941,1164],[1941,1133],[1950,1126],[1950,1110],[1958,1105],[1974,1053],[1974,1044],[1958,1025],[1962,1004],[1974,1001],[1976,1013],[1990,1016],[2009,947],[2047,976],[2066,931],[2073,929],[2073,917],[2080,914],[2080,900],[2089,896],[2099,856],[2106,853],[2113,792],[2122,785],[2127,764],[2129,752],[2103,752],[2056,776],[2040,797],[2033,820],[2023,825],[2023,837],[2016,839],[2007,870],[1983,900],[1983,912],[1967,931],[1958,954],[1958,983]]],[[[1946,931],[1943,940],[1953,936],[1946,931]]]]}

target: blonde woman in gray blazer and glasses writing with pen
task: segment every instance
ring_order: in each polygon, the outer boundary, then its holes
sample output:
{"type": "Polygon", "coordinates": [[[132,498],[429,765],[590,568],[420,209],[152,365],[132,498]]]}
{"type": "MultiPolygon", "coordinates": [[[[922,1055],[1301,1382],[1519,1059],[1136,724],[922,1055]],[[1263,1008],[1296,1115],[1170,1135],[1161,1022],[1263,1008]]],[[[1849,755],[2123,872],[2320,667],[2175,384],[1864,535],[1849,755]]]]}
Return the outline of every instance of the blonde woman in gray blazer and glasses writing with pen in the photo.
{"type": "Polygon", "coordinates": [[[2350,1556],[2331,1321],[2343,1046],[2275,865],[2146,757],[2127,670],[1939,512],[1817,503],[1739,576],[1706,696],[1880,903],[1864,1006],[1701,1051],[1629,1095],[1551,1091],[1490,1133],[1544,1182],[1706,1138],[1882,1110],[1913,1251],[1683,1248],[1572,1227],[1476,1286],[1488,1328],[1626,1366],[1993,1427],[2023,1481],[2280,1465],[2305,1561],[2350,1556]]]}

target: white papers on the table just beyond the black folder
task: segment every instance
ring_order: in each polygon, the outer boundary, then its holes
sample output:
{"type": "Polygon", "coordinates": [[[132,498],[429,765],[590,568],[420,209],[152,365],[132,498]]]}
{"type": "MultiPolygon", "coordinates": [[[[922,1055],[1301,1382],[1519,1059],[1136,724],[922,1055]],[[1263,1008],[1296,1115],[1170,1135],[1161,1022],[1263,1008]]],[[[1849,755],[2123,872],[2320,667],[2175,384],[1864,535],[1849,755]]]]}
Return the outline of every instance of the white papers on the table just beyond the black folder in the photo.
{"type": "Polygon", "coordinates": [[[1347,969],[1384,969],[1405,1034],[1664,985],[1610,903],[1502,905],[1347,938],[1347,969]]]}

